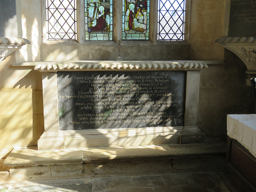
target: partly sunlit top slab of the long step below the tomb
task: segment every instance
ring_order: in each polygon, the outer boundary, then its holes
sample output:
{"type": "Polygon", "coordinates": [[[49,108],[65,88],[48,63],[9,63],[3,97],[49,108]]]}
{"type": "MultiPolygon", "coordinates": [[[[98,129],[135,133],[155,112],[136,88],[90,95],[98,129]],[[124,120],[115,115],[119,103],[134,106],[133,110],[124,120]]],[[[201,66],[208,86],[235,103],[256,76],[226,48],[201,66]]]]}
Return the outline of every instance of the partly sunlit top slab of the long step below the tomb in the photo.
{"type": "Polygon", "coordinates": [[[4,160],[11,167],[83,164],[110,160],[148,158],[148,157],[185,157],[224,154],[225,142],[205,142],[202,144],[162,144],[148,146],[92,147],[64,150],[36,150],[15,148],[4,160]]]}

